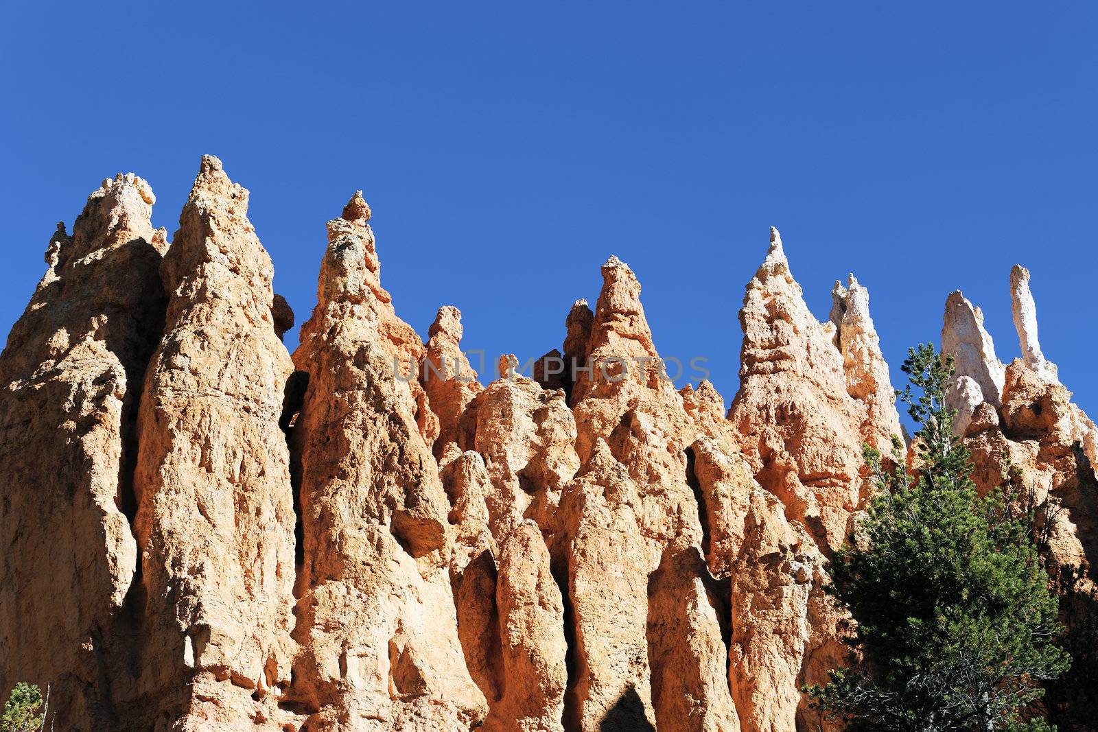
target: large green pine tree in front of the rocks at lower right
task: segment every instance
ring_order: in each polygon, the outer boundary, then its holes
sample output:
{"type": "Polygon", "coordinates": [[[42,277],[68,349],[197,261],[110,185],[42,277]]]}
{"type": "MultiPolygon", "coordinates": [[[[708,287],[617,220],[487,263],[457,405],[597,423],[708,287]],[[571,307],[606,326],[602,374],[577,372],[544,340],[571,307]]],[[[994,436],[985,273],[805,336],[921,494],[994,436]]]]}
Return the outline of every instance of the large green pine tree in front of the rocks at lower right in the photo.
{"type": "Polygon", "coordinates": [[[1002,492],[976,495],[944,405],[952,362],[927,345],[903,369],[910,384],[897,396],[919,426],[919,473],[904,470],[898,438],[897,468],[864,448],[879,495],[829,568],[862,661],[805,690],[850,732],[1053,729],[1030,710],[1069,658],[1052,642],[1057,603],[1031,525],[1002,492]]]}

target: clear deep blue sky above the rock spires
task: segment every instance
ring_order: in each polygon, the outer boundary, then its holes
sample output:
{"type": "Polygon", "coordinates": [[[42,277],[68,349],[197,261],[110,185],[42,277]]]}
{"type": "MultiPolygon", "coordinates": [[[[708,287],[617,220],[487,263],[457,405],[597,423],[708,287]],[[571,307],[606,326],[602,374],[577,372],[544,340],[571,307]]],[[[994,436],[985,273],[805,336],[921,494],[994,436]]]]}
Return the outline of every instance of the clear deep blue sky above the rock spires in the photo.
{"type": "Polygon", "coordinates": [[[146,178],[170,236],[212,153],[299,324],[324,223],[363,189],[422,335],[453,304],[467,347],[544,353],[615,254],[657,347],[709,358],[730,402],[775,225],[818,317],[837,278],[869,286],[894,381],[955,289],[1016,357],[1024,263],[1044,352],[1098,417],[1096,7],[762,5],[5,3],[0,328],[103,177],[146,178]]]}

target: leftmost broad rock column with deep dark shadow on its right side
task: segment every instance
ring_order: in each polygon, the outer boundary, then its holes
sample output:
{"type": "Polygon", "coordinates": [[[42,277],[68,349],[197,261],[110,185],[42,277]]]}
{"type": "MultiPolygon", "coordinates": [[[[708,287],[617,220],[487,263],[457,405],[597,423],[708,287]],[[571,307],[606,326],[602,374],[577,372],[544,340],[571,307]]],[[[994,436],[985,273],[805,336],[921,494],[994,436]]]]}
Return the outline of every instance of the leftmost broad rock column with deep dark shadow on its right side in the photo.
{"type": "Polygon", "coordinates": [[[0,690],[49,685],[58,729],[119,723],[132,691],[117,624],[137,564],[134,420],[164,324],[153,202],[120,174],[71,236],[58,225],[0,356],[0,690]]]}

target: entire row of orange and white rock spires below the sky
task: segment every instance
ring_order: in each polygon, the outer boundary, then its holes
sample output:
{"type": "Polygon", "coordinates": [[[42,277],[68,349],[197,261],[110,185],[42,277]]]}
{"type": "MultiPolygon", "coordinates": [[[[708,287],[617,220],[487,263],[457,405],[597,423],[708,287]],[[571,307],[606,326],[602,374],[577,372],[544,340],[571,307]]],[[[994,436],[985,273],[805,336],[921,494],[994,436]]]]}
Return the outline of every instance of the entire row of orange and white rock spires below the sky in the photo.
{"type": "MultiPolygon", "coordinates": [[[[48,684],[66,730],[816,729],[799,688],[850,622],[825,567],[872,497],[861,444],[900,432],[853,275],[819,323],[772,230],[726,415],[662,376],[617,258],[550,351],[587,370],[505,356],[482,385],[456,308],[426,344],[396,315],[360,193],[292,357],[221,161],[170,246],[153,202],[119,176],[58,227],[0,357],[0,687],[48,684]]],[[[1089,566],[1098,430],[1028,277],[1006,369],[950,296],[950,398],[982,484],[1024,465],[1089,566]]]]}

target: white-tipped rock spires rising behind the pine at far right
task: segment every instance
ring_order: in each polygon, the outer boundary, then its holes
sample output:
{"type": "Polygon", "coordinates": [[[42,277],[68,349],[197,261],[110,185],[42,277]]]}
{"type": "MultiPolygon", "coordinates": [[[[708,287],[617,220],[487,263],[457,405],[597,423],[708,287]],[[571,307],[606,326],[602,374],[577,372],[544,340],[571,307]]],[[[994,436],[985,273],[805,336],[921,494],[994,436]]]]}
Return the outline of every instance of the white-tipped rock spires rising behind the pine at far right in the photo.
{"type": "Polygon", "coordinates": [[[942,346],[956,373],[946,403],[956,409],[954,430],[973,452],[973,480],[982,491],[1017,471],[1016,489],[1045,504],[1052,566],[1075,570],[1094,588],[1098,556],[1098,427],[1060,383],[1056,364],[1038,340],[1030,273],[1015,264],[1010,300],[1022,357],[1004,365],[984,329],[984,314],[960,291],[945,302],[942,346]]]}

